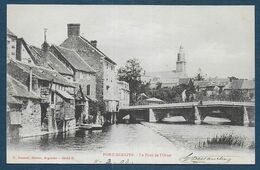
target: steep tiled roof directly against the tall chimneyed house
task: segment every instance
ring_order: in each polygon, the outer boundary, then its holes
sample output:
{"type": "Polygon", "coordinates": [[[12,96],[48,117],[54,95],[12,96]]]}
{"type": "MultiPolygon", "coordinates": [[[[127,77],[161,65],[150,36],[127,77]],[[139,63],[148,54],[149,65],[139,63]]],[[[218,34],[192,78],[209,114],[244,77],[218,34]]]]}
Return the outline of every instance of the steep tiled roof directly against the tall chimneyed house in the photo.
{"type": "Polygon", "coordinates": [[[96,72],[78,55],[76,51],[56,45],[51,46],[51,48],[56,49],[54,50],[54,54],[58,51],[63,56],[63,58],[67,60],[67,62],[70,63],[71,66],[76,70],[85,71],[88,73],[96,72]]]}

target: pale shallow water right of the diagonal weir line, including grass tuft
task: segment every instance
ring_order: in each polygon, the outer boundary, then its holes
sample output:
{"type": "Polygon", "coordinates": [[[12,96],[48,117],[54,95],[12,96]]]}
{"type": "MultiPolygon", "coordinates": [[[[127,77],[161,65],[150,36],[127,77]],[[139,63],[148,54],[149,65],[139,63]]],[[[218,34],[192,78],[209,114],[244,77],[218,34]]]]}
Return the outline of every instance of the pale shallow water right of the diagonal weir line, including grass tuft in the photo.
{"type": "Polygon", "coordinates": [[[229,125],[191,125],[148,123],[142,125],[165,137],[174,145],[191,150],[255,149],[255,128],[229,125]]]}

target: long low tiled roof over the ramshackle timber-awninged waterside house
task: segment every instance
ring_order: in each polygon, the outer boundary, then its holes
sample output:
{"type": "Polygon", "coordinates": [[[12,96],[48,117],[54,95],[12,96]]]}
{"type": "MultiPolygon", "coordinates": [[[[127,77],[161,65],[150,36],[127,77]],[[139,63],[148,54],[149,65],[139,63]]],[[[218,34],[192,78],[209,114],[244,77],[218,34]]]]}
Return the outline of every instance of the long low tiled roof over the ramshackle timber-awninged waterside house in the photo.
{"type": "Polygon", "coordinates": [[[54,83],[61,84],[64,86],[74,87],[74,85],[72,85],[70,82],[68,82],[62,75],[60,75],[55,70],[25,64],[25,63],[22,63],[19,61],[12,61],[9,64],[10,65],[8,67],[12,67],[12,64],[15,64],[16,66],[20,67],[27,73],[29,73],[30,68],[32,68],[33,75],[36,76],[38,79],[46,80],[49,82],[52,82],[52,80],[53,80],[54,83]]]}

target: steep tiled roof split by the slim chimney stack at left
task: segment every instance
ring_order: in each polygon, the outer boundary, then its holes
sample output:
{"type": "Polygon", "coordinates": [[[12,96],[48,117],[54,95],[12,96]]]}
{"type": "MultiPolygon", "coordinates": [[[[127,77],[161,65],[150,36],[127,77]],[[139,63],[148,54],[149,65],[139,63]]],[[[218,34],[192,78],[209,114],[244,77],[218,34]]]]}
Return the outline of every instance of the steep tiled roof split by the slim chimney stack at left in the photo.
{"type": "MultiPolygon", "coordinates": [[[[36,58],[40,59],[40,57],[43,56],[43,51],[40,48],[30,46],[30,49],[34,51],[33,54],[36,58]]],[[[58,60],[52,52],[47,53],[47,63],[52,69],[58,71],[60,74],[73,75],[72,71],[58,60]]]]}

